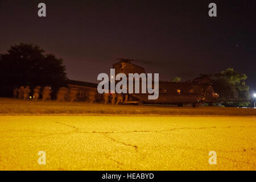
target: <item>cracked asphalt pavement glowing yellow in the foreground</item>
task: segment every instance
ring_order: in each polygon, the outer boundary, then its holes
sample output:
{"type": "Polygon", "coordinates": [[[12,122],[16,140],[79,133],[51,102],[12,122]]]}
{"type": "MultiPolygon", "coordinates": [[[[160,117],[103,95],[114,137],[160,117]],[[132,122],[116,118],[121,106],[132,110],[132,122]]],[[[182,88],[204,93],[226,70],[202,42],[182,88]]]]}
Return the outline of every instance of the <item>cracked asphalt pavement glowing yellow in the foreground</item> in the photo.
{"type": "Polygon", "coordinates": [[[256,169],[256,117],[2,115],[0,126],[1,170],[256,169]]]}

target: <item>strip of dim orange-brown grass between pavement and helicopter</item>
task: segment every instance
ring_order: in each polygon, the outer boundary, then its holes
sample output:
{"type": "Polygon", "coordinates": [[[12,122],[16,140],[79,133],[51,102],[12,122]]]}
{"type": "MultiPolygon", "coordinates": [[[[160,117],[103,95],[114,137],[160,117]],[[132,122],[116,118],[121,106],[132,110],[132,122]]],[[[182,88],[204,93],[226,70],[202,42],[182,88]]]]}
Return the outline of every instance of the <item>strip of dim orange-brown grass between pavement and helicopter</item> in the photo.
{"type": "Polygon", "coordinates": [[[256,115],[256,109],[236,107],[175,107],[104,105],[0,98],[0,115],[256,115]]]}

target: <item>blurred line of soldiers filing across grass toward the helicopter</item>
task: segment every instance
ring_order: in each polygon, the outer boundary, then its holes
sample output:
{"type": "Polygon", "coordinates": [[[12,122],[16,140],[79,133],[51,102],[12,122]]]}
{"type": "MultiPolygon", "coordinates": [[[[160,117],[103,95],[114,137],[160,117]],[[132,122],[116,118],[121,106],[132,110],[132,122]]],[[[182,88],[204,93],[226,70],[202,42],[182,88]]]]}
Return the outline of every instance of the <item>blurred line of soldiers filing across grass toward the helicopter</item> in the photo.
{"type": "MultiPolygon", "coordinates": [[[[41,87],[40,86],[36,86],[33,89],[33,95],[32,97],[30,96],[31,93],[31,89],[30,86],[26,86],[26,88],[24,86],[20,86],[20,88],[14,88],[14,98],[19,98],[19,99],[24,99],[27,100],[29,98],[32,98],[33,100],[38,100],[38,98],[40,97],[40,94],[42,94],[42,101],[46,101],[46,100],[51,100],[51,93],[52,93],[52,89],[50,86],[44,86],[42,93],[40,92],[41,87]]],[[[67,101],[69,100],[70,102],[73,101],[77,101],[77,94],[78,94],[79,90],[77,88],[65,88],[65,87],[61,87],[59,88],[58,92],[57,92],[57,102],[60,101],[67,101]]],[[[93,90],[88,92],[88,98],[89,98],[89,102],[90,104],[92,104],[95,100],[96,100],[96,92],[94,92],[93,90]]],[[[103,94],[103,98],[104,98],[104,104],[108,104],[109,99],[111,101],[111,104],[114,105],[118,105],[119,103],[123,102],[123,96],[122,94],[115,94],[115,93],[104,93],[103,94]]]]}

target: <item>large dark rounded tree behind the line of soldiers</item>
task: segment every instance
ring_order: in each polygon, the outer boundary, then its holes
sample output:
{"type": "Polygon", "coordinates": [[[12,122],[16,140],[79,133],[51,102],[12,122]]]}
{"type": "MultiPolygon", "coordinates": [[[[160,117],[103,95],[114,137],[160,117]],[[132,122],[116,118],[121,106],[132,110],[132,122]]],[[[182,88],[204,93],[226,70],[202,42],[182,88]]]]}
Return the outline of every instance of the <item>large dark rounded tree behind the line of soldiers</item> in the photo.
{"type": "Polygon", "coordinates": [[[39,46],[20,43],[0,55],[0,94],[10,96],[15,86],[65,86],[63,60],[44,52],[39,46]]]}

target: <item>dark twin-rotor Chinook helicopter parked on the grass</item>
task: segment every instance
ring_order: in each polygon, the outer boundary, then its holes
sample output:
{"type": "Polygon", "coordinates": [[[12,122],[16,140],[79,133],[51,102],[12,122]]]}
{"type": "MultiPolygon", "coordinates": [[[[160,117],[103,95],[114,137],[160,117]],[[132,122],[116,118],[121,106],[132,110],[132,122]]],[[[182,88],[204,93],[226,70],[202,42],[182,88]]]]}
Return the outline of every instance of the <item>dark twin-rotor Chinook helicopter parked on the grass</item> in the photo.
{"type": "MultiPolygon", "coordinates": [[[[145,73],[145,69],[133,64],[134,60],[121,59],[113,64],[115,75],[124,73],[145,73]]],[[[123,104],[174,104],[183,106],[192,104],[195,107],[200,103],[212,104],[217,101],[218,94],[214,92],[209,78],[199,77],[190,82],[168,82],[159,81],[159,97],[156,100],[148,100],[148,93],[123,94],[123,104]]]]}

